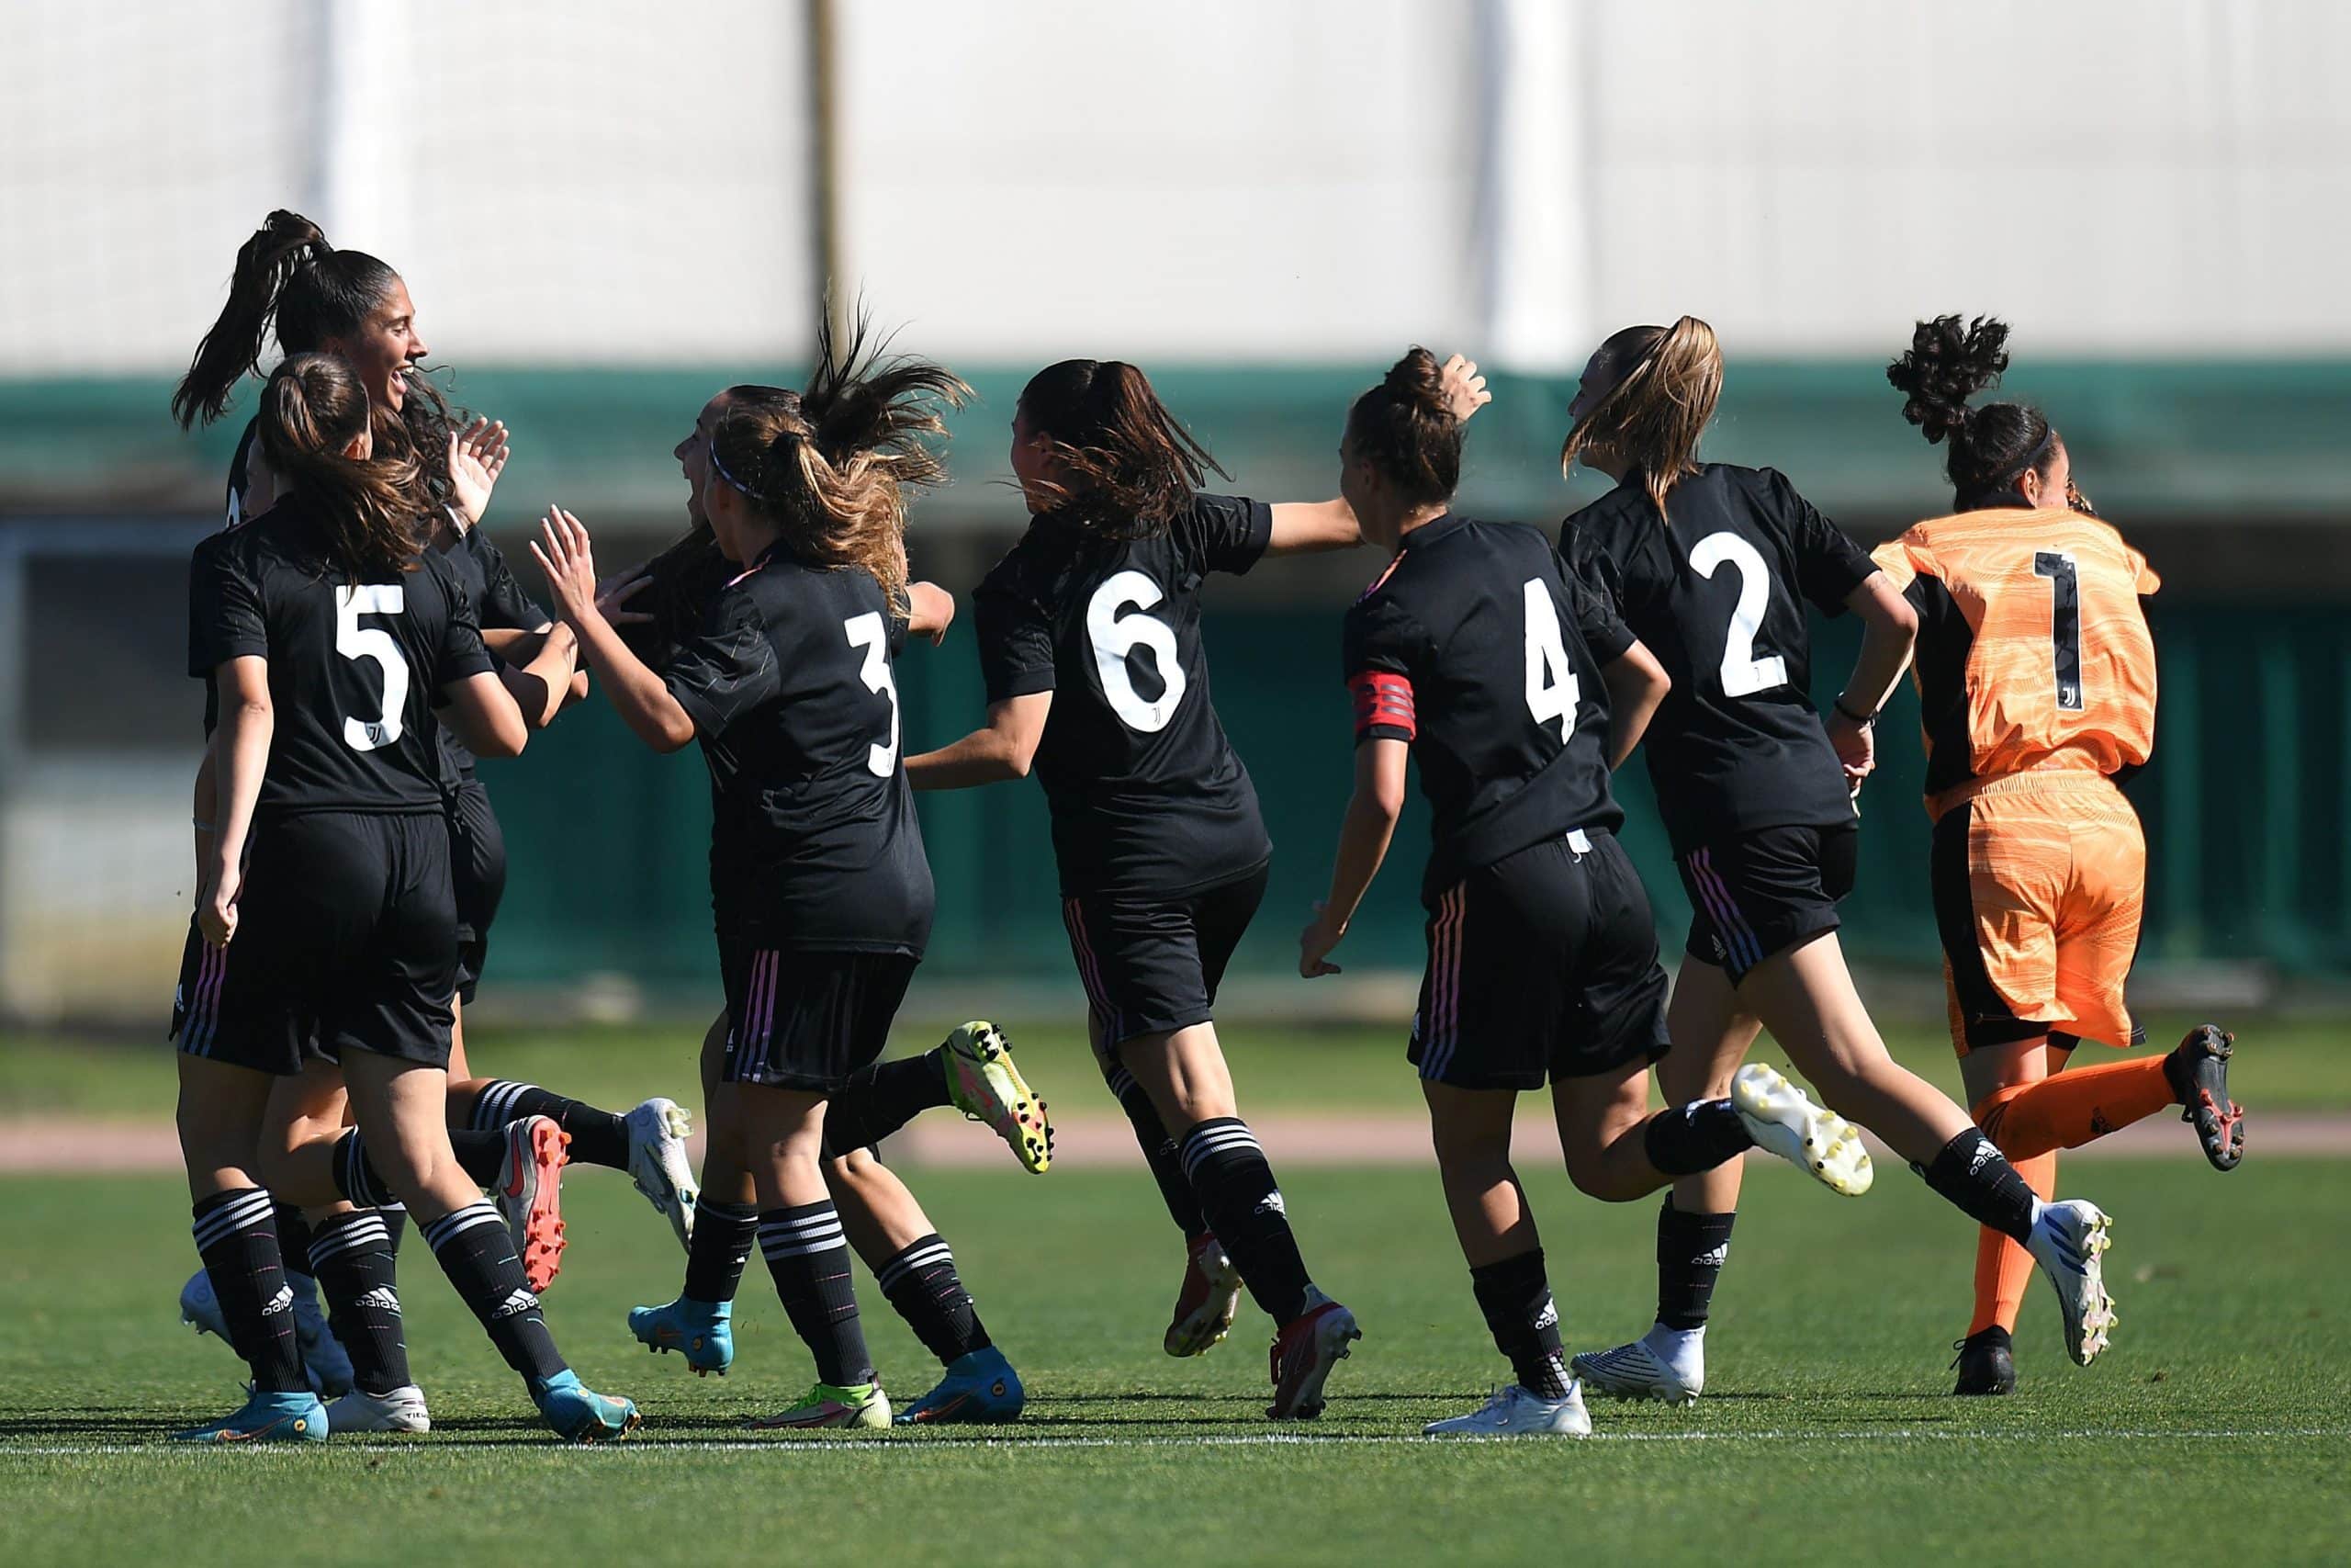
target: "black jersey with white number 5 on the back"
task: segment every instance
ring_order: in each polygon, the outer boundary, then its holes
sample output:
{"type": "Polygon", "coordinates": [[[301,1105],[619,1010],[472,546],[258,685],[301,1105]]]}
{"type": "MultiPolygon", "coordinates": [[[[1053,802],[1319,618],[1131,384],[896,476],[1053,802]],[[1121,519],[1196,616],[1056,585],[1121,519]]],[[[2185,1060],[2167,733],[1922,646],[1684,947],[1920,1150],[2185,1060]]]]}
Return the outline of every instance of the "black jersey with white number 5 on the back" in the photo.
{"type": "Polygon", "coordinates": [[[491,668],[449,567],[426,552],[414,571],[346,583],[301,496],[207,545],[188,588],[188,663],[268,661],[259,809],[440,811],[435,698],[491,668]]]}

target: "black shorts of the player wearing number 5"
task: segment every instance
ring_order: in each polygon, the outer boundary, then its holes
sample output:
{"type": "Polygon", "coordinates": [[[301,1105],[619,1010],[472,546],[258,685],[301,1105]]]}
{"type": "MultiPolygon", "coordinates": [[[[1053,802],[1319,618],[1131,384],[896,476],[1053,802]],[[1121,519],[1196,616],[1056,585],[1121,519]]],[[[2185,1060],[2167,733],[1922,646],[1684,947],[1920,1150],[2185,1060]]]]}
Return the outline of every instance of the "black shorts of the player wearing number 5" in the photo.
{"type": "Polygon", "coordinates": [[[228,947],[188,931],[172,1039],[273,1074],[343,1051],[447,1067],[454,985],[440,816],[282,816],[254,825],[228,947]]]}

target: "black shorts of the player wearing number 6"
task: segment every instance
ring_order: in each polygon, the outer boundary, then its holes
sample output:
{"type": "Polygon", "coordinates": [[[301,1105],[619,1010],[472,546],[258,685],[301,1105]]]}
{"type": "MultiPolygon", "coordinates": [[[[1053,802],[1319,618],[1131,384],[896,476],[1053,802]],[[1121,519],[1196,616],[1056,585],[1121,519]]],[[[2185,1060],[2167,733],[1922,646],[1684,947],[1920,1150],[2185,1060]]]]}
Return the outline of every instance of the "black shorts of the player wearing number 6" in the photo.
{"type": "Polygon", "coordinates": [[[1215,987],[1265,903],[1265,877],[1260,865],[1176,898],[1086,893],[1060,900],[1077,978],[1105,1048],[1215,1016],[1215,987]]]}

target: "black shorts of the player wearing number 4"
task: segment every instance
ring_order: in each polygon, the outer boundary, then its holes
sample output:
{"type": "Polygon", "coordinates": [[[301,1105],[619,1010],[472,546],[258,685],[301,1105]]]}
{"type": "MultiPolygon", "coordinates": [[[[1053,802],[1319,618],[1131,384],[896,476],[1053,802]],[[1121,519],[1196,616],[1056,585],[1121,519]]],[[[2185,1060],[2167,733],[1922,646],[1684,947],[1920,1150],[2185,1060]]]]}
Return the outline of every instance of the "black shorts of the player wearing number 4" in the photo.
{"type": "Polygon", "coordinates": [[[1453,1088],[1542,1088],[1665,1056],[1657,919],[1625,846],[1570,832],[1462,877],[1429,912],[1408,1060],[1453,1088]]]}

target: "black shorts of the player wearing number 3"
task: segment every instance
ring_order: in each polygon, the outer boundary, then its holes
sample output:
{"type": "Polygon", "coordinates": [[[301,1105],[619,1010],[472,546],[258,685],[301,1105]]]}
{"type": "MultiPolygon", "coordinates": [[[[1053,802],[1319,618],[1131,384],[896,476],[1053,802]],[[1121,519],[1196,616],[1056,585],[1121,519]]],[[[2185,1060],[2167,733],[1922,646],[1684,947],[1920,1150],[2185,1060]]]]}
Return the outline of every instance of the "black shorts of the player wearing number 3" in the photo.
{"type": "Polygon", "coordinates": [[[889,1044],[910,952],[757,947],[719,938],[726,978],[724,1084],[832,1093],[889,1044]]]}

